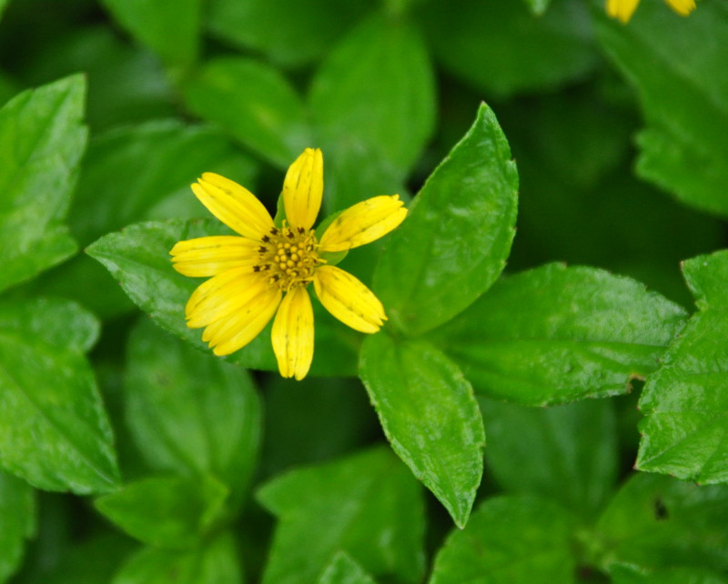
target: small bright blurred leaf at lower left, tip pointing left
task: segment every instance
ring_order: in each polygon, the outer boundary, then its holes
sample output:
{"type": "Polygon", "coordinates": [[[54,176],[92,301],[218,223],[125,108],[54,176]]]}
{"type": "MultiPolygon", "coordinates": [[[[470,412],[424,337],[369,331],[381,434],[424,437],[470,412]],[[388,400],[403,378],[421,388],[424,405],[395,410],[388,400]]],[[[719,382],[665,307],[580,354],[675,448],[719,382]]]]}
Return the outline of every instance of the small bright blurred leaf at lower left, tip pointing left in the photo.
{"type": "Polygon", "coordinates": [[[130,536],[159,548],[196,546],[219,521],[229,491],[215,478],[162,476],[97,498],[96,508],[130,536]]]}

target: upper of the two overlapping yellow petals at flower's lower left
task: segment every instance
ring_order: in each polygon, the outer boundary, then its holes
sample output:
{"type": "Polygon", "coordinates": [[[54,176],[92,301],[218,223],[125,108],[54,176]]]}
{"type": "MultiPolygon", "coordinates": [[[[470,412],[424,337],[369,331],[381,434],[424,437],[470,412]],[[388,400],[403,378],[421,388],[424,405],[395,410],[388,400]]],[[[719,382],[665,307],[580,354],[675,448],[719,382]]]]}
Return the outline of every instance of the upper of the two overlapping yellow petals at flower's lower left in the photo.
{"type": "Polygon", "coordinates": [[[268,287],[268,277],[250,267],[227,270],[203,282],[187,300],[187,327],[206,327],[238,310],[268,287]]]}

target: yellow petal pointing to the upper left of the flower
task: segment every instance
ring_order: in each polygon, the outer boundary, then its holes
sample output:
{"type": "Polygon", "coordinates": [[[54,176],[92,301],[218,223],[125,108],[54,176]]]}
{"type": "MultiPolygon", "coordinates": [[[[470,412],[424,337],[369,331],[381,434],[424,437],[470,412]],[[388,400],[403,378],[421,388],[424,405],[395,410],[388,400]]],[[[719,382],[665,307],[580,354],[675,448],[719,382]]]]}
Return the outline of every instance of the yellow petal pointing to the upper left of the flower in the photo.
{"type": "Polygon", "coordinates": [[[273,219],[256,196],[225,176],[203,173],[192,192],[210,213],[241,236],[259,240],[273,228],[273,219]]]}

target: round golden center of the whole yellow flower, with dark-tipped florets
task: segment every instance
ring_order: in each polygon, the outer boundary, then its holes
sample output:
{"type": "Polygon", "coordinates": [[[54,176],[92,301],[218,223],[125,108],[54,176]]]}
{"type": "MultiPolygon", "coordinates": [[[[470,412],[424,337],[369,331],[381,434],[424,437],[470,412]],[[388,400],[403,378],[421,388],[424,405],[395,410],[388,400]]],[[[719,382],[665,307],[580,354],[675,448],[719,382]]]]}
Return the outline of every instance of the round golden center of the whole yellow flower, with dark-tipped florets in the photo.
{"type": "Polygon", "coordinates": [[[261,238],[260,259],[253,266],[256,272],[269,272],[268,283],[291,290],[306,286],[324,260],[319,257],[319,242],[312,230],[294,229],[284,221],[283,227],[273,227],[261,238]]]}

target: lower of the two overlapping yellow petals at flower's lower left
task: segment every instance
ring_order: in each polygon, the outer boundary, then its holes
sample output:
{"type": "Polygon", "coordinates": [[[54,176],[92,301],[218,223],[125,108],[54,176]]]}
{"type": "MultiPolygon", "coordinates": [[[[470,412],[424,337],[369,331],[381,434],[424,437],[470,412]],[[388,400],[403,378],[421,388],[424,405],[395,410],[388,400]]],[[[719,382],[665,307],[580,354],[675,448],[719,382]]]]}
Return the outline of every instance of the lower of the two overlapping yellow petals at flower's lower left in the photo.
{"type": "Polygon", "coordinates": [[[282,295],[280,288],[267,287],[248,304],[209,325],[202,335],[202,340],[213,347],[213,353],[216,355],[229,355],[245,347],[258,337],[260,331],[276,314],[282,295]]]}

